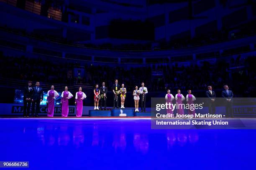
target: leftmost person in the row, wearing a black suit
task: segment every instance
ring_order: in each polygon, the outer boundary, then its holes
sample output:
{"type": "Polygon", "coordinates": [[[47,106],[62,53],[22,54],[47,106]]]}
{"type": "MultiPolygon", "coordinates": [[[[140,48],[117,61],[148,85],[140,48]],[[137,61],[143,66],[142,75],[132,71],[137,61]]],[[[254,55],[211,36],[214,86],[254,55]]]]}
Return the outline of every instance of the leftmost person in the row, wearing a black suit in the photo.
{"type": "Polygon", "coordinates": [[[28,86],[24,87],[23,90],[23,117],[28,117],[31,107],[31,102],[33,100],[33,88],[32,88],[32,82],[28,81],[28,86]]]}

